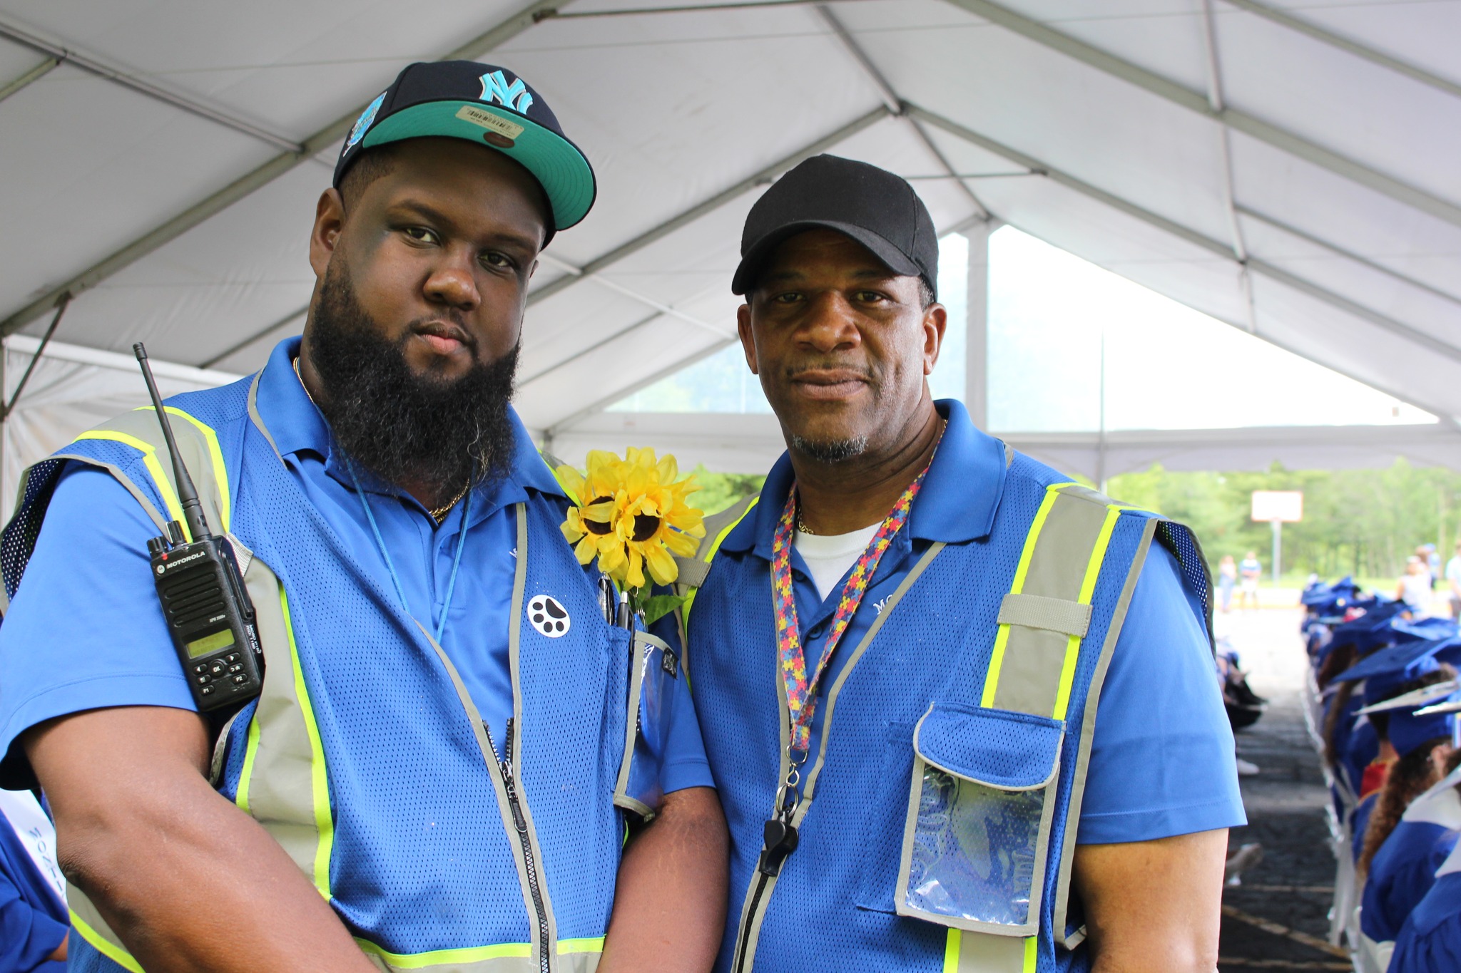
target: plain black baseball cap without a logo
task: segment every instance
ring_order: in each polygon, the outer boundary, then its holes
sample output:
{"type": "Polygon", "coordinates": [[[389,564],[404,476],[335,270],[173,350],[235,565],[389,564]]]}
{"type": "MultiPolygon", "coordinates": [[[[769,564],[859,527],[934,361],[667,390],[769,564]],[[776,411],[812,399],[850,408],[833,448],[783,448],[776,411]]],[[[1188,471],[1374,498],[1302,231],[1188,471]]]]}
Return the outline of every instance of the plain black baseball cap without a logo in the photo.
{"type": "Polygon", "coordinates": [[[903,177],[828,155],[798,165],[751,207],[730,293],[751,290],[783,241],[820,228],[853,238],[896,274],[922,277],[938,296],[938,233],[923,200],[903,177]]]}

